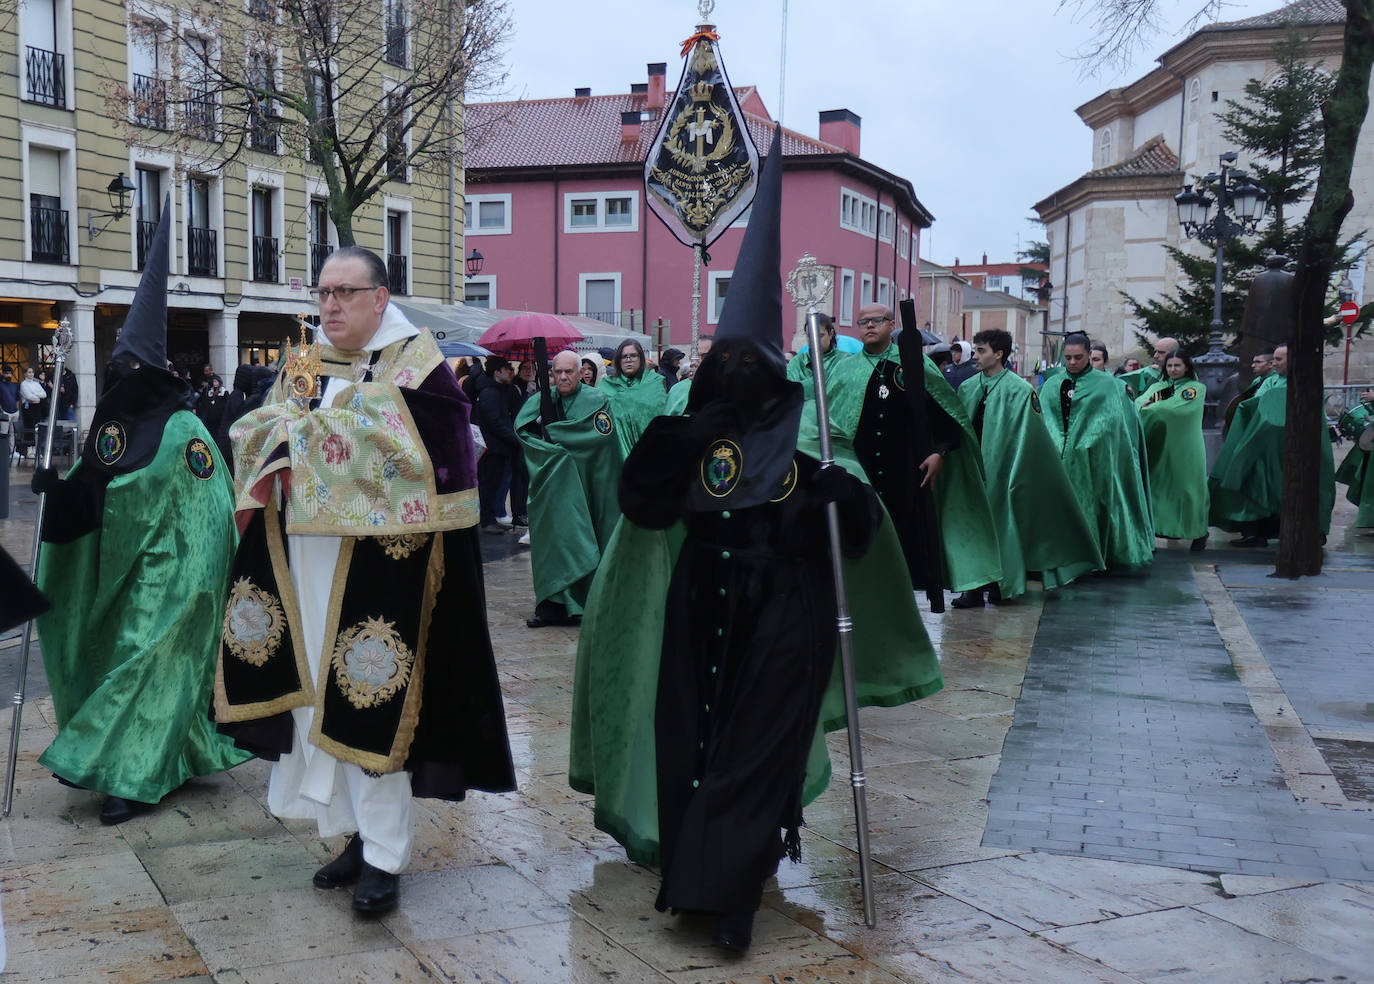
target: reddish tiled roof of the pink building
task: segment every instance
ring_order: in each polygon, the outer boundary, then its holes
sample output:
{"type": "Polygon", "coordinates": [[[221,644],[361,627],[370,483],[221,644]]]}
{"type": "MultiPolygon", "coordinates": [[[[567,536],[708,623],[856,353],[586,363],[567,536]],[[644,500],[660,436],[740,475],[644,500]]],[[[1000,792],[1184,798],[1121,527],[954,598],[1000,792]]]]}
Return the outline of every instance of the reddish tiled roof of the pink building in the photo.
{"type": "MultiPolygon", "coordinates": [[[[753,87],[735,89],[741,103],[753,87]]],[[[467,107],[467,168],[547,168],[598,164],[639,164],[658,132],[662,110],[653,110],[640,125],[639,140],[621,140],[620,114],[643,111],[644,95],[561,96],[504,103],[473,103],[467,107]]],[[[761,154],[772,143],[774,122],[745,114],[749,135],[761,154]]],[[[835,144],[783,129],[785,157],[844,154],[835,144]]]]}

